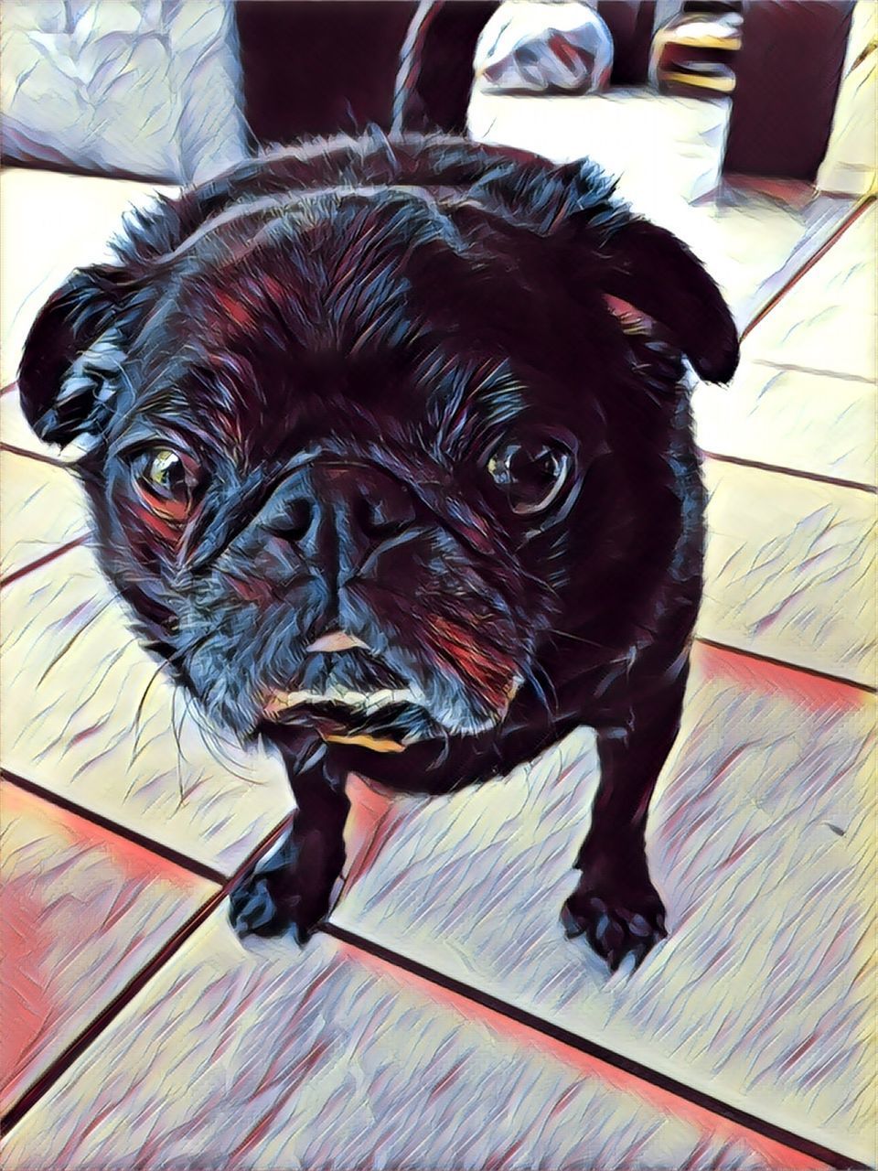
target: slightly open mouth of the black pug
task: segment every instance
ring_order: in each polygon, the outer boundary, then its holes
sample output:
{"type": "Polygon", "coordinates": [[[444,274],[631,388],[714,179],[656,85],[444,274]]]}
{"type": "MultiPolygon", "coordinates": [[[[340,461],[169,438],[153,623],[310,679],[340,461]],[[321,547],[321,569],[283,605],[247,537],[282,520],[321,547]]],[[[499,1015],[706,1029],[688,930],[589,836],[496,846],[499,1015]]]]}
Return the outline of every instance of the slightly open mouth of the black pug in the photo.
{"type": "Polygon", "coordinates": [[[369,693],[279,690],[269,697],[266,715],[275,726],[310,728],[328,744],[371,752],[404,752],[412,744],[444,734],[421,697],[410,687],[369,693]]]}

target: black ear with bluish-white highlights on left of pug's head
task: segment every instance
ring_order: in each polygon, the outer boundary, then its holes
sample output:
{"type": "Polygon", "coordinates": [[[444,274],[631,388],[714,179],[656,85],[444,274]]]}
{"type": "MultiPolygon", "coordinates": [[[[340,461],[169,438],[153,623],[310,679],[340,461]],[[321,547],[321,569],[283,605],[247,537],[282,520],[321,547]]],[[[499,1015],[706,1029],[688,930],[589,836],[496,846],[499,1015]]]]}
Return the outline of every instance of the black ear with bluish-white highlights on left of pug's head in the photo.
{"type": "Polygon", "coordinates": [[[130,327],[133,289],[126,278],[112,265],[76,269],[30,327],[19,392],[25,418],[46,443],[97,434],[109,419],[130,327]]]}

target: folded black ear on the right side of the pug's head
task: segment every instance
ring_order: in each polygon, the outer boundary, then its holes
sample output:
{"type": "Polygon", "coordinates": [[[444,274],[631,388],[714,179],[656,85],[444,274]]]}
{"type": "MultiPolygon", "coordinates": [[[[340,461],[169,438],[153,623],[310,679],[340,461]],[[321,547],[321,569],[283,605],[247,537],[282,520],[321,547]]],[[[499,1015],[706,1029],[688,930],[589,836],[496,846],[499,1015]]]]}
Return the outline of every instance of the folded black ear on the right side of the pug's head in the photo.
{"type": "Polygon", "coordinates": [[[671,232],[647,220],[617,227],[599,249],[610,297],[660,322],[707,382],[728,382],[738,367],[738,330],[701,262],[671,232]]]}

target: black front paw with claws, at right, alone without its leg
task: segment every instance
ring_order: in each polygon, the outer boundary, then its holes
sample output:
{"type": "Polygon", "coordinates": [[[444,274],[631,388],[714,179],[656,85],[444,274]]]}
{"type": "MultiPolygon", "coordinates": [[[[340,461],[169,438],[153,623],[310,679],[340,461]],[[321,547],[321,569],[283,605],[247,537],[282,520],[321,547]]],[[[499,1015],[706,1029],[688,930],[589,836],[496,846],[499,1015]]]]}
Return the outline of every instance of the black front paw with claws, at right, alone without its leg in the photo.
{"type": "Polygon", "coordinates": [[[564,903],[561,922],[568,939],[584,934],[616,971],[626,956],[639,967],[652,947],[667,936],[665,908],[652,883],[612,890],[595,889],[583,878],[564,903]]]}

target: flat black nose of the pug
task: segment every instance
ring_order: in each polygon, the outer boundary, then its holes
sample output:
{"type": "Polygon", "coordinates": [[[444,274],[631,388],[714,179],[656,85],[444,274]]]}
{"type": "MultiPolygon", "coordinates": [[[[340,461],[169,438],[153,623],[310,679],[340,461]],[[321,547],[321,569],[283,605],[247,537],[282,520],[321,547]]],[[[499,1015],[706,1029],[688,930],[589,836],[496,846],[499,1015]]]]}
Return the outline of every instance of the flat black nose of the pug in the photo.
{"type": "Polygon", "coordinates": [[[362,559],[414,520],[404,485],[378,468],[314,464],[291,477],[274,533],[313,559],[362,559]]]}

